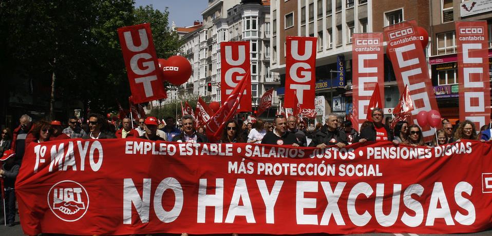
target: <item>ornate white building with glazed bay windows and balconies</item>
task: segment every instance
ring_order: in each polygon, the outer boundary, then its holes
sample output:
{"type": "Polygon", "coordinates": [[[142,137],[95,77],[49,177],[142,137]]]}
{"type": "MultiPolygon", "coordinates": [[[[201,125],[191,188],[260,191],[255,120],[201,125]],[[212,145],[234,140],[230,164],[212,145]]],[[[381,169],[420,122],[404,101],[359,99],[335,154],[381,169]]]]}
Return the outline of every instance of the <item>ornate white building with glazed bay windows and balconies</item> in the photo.
{"type": "MultiPolygon", "coordinates": [[[[278,73],[270,70],[269,3],[270,1],[209,0],[207,8],[201,13],[203,24],[194,31],[183,34],[181,38],[183,56],[192,65],[192,76],[178,90],[169,91],[168,99],[163,104],[197,96],[207,102],[220,102],[220,43],[249,41],[252,105],[257,107],[264,91],[280,84],[278,73]],[[210,83],[211,88],[208,86],[210,83]]],[[[274,105],[278,104],[275,93],[273,100],[274,105]]]]}

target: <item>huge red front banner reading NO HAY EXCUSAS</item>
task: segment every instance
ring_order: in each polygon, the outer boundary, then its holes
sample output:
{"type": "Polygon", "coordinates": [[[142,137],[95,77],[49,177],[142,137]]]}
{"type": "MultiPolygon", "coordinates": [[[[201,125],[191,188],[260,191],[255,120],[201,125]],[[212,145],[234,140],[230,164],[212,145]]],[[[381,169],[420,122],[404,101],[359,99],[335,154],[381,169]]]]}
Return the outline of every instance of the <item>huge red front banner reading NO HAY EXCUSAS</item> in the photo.
{"type": "Polygon", "coordinates": [[[467,233],[492,226],[490,151],[63,140],[27,147],[15,190],[31,235],[467,233]]]}

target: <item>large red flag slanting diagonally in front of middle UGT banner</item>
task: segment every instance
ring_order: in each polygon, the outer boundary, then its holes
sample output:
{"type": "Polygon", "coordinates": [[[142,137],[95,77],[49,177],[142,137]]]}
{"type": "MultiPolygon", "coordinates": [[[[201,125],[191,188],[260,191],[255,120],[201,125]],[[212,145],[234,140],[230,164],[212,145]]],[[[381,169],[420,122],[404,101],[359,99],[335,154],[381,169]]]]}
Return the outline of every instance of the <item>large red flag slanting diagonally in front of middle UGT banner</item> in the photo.
{"type": "MultiPolygon", "coordinates": [[[[251,77],[250,70],[246,72],[244,77],[251,77]]],[[[241,80],[220,109],[210,118],[206,127],[206,133],[210,142],[214,142],[219,139],[220,135],[222,135],[225,122],[231,120],[236,114],[241,98],[244,95],[244,90],[248,84],[247,81],[248,80],[241,80]]]]}

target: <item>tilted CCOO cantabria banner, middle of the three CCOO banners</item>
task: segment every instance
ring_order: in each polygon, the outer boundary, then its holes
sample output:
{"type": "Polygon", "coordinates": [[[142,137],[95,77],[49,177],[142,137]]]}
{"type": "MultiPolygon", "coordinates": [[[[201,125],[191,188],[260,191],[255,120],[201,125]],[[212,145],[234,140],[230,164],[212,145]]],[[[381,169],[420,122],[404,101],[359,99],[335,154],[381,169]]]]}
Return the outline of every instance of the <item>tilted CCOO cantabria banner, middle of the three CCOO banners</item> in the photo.
{"type": "MultiPolygon", "coordinates": [[[[417,114],[420,111],[439,110],[436,96],[425,61],[424,49],[420,42],[414,22],[402,22],[384,29],[389,39],[387,52],[393,65],[398,89],[403,91],[405,85],[410,91],[414,110],[412,122],[417,124],[417,114]]],[[[429,125],[422,127],[426,142],[432,141],[434,130],[429,125]]]]}

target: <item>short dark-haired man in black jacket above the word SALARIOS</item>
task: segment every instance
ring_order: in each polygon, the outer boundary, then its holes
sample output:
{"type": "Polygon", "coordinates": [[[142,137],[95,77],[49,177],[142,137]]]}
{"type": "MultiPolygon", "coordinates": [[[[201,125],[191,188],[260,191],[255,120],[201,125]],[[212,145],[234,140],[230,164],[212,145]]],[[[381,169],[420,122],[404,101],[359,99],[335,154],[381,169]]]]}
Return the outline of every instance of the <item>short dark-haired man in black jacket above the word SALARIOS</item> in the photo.
{"type": "Polygon", "coordinates": [[[261,144],[292,145],[299,147],[295,134],[287,131],[287,119],[285,116],[275,116],[273,123],[275,125],[273,132],[267,132],[261,140],[261,144]]]}

